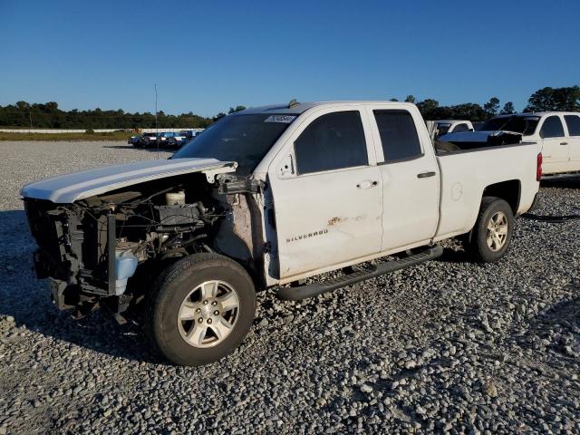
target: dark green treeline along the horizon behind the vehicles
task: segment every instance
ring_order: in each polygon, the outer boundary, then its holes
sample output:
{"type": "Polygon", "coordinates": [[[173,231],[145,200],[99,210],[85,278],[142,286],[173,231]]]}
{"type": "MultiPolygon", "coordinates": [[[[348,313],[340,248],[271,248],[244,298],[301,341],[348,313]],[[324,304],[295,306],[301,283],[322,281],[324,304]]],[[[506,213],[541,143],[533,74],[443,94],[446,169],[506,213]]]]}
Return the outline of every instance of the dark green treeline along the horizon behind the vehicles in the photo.
{"type": "MultiPolygon", "coordinates": [[[[397,101],[391,99],[391,101],[397,101]]],[[[468,102],[451,106],[440,106],[439,102],[426,99],[416,102],[415,97],[408,95],[406,102],[417,104],[426,120],[469,120],[487,121],[498,114],[515,113],[512,102],[501,105],[497,97],[489,99],[483,106],[468,102]]],[[[242,111],[244,106],[230,107],[228,113],[242,111]]],[[[524,111],[580,111],[580,87],[543,88],[534,92],[527,101],[524,111]]],[[[169,115],[158,112],[160,128],[206,128],[209,124],[226,116],[220,112],[212,118],[196,115],[189,111],[180,115],[169,115]]],[[[23,127],[34,129],[135,129],[154,128],[155,114],[150,112],[130,113],[122,111],[62,111],[56,102],[28,103],[16,102],[0,106],[0,126],[23,127]]]]}

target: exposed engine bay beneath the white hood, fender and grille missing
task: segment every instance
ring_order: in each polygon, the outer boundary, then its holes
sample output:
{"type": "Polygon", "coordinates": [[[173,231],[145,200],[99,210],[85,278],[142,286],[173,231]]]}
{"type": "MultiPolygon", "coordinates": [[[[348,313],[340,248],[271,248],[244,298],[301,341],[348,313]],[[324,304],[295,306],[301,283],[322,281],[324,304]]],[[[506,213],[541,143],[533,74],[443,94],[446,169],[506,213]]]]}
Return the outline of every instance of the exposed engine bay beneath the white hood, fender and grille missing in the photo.
{"type": "Polygon", "coordinates": [[[82,316],[107,304],[121,317],[144,293],[143,288],[128,286],[129,278],[142,275],[147,281],[161,264],[226,249],[228,256],[237,256],[251,268],[252,235],[239,236],[233,208],[247,206],[263,187],[230,174],[210,184],[204,174],[194,173],[72,204],[24,198],[39,247],[34,254],[36,274],[50,278],[59,308],[76,308],[77,316],[82,316]]]}

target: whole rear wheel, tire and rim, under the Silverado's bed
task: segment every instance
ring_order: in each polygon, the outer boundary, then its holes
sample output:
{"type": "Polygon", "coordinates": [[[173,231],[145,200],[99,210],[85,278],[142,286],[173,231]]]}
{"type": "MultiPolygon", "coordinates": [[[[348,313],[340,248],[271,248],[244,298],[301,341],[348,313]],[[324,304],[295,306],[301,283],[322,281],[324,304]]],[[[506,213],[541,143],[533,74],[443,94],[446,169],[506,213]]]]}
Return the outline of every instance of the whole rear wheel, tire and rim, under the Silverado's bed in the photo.
{"type": "Polygon", "coordinates": [[[484,197],[478,220],[466,245],[476,260],[495,263],[507,252],[514,230],[514,214],[504,199],[484,197]]]}

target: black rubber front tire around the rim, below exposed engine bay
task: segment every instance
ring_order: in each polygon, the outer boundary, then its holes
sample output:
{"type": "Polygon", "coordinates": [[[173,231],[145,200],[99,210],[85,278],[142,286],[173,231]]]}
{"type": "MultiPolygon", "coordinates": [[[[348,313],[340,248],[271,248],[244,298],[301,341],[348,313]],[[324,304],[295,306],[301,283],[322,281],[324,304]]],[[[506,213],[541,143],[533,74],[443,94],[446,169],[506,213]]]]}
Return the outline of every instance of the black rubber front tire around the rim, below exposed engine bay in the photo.
{"type": "Polygon", "coordinates": [[[203,365],[233,352],[244,340],[255,313],[256,292],[246,270],[226,256],[196,254],[169,266],[156,280],[146,311],[146,333],[170,362],[203,365]],[[179,332],[179,307],[192,289],[208,280],[223,281],[235,289],[239,300],[237,321],[221,343],[212,347],[194,347],[179,332]]]}

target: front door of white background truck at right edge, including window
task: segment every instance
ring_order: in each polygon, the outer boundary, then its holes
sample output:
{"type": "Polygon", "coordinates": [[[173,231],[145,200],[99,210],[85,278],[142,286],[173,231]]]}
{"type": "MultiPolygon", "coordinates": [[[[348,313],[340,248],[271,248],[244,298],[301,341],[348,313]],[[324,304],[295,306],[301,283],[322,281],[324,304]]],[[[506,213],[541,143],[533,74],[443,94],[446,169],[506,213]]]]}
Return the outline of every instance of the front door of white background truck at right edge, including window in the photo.
{"type": "Polygon", "coordinates": [[[565,138],[559,115],[548,115],[540,126],[542,139],[542,167],[546,174],[565,172],[568,167],[570,145],[565,138]]]}

